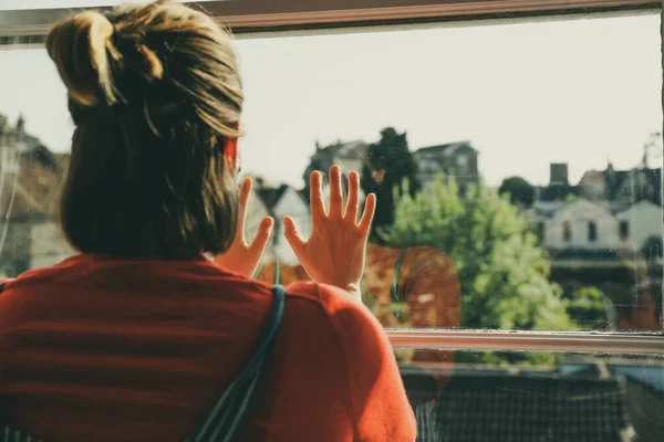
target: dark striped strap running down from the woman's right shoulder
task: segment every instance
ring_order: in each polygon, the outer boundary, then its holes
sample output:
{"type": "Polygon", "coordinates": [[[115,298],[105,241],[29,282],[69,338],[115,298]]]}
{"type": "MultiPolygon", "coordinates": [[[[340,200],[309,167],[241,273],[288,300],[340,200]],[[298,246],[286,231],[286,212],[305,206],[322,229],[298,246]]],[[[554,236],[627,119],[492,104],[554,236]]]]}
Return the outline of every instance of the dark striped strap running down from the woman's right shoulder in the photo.
{"type": "Polygon", "coordinates": [[[186,442],[230,442],[245,429],[283,318],[286,288],[274,285],[272,294],[274,302],[268,322],[249,362],[186,442]]]}

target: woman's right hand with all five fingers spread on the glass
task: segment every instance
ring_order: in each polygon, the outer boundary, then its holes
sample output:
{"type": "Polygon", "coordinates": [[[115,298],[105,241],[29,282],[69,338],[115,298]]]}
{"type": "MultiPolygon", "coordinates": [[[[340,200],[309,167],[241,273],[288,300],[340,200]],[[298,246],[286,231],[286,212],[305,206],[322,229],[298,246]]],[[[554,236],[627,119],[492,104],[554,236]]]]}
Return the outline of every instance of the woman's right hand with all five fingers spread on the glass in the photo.
{"type": "Polygon", "coordinates": [[[346,290],[361,299],[360,280],[364,271],[366,239],[371,229],[376,198],[366,198],[364,214],[357,223],[360,211],[360,177],[352,172],[349,177],[349,200],[343,207],[341,170],[330,169],[330,213],[325,213],[321,190],[321,173],[311,173],[311,220],[313,229],[309,240],[298,232],[292,218],[286,217],[286,239],[300,263],[314,281],[346,290]]]}

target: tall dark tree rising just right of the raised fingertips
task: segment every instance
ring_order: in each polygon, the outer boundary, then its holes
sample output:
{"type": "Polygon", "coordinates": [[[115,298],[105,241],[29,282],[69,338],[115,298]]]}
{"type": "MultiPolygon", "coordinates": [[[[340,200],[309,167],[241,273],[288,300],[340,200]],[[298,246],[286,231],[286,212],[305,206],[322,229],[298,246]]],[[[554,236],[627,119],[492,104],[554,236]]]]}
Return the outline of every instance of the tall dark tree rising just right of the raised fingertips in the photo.
{"type": "Polygon", "coordinates": [[[366,161],[362,169],[362,190],[376,194],[376,213],[372,227],[372,241],[384,243],[381,229],[394,222],[394,190],[401,196],[407,182],[411,196],[419,190],[416,177],[417,165],[411,150],[406,133],[397,133],[387,127],[381,130],[378,143],[369,146],[366,161]]]}

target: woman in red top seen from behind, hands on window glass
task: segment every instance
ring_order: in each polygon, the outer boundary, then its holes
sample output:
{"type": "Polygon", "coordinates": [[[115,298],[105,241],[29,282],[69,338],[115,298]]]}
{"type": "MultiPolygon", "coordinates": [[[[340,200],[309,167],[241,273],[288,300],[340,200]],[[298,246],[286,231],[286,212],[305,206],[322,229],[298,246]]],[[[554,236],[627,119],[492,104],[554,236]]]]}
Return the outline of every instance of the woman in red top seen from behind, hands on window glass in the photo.
{"type": "MultiPolygon", "coordinates": [[[[181,441],[247,364],[272,305],[243,240],[242,88],[228,35],[170,1],[83,12],[46,48],[75,123],[61,223],[81,254],[0,293],[0,415],[45,441],[181,441]]],[[[375,208],[359,177],[313,233],[287,236],[315,283],[288,287],[270,370],[241,440],[413,441],[392,349],[361,305],[375,208]]]]}

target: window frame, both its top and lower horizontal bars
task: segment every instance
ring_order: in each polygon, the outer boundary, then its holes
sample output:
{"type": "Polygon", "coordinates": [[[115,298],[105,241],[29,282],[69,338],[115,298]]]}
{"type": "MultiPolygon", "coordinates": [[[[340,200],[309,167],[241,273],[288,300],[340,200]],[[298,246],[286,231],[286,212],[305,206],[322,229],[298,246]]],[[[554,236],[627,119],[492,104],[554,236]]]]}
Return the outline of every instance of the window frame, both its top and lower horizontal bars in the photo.
{"type": "MultiPolygon", "coordinates": [[[[661,9],[653,0],[336,0],[311,6],[309,0],[207,1],[201,6],[236,34],[347,29],[510,17],[553,18],[587,12],[661,9]],[[562,15],[561,15],[562,14],[562,15]]],[[[317,2],[321,3],[321,2],[317,2]]],[[[52,22],[72,9],[0,11],[0,49],[41,45],[52,22]],[[4,40],[3,40],[4,39],[4,40]]],[[[663,33],[664,38],[664,27],[663,33]]],[[[664,98],[664,91],[662,94],[664,98]]],[[[450,329],[387,329],[393,346],[448,350],[515,350],[664,355],[664,333],[554,333],[450,329]]]]}

